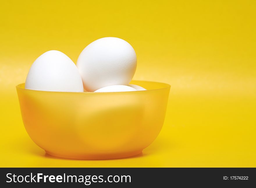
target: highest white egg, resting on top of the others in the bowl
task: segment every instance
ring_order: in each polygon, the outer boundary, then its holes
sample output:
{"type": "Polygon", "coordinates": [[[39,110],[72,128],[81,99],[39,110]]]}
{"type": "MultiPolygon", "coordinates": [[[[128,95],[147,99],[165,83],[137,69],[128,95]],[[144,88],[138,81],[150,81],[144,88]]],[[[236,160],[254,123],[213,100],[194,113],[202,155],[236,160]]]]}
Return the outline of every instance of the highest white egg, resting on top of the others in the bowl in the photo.
{"type": "Polygon", "coordinates": [[[132,46],[115,38],[100,38],[83,49],[77,67],[86,91],[95,91],[110,85],[128,85],[137,66],[132,46]]]}

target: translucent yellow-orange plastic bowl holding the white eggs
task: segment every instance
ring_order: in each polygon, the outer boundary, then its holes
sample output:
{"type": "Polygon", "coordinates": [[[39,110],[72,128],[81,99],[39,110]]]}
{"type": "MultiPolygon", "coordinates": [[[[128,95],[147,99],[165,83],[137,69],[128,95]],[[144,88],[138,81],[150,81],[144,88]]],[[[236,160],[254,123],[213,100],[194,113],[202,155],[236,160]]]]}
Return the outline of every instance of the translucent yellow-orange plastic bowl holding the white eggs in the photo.
{"type": "Polygon", "coordinates": [[[47,92],[16,86],[22,119],[46,153],[72,159],[113,159],[142,152],[163,126],[170,85],[132,81],[134,92],[47,92]]]}

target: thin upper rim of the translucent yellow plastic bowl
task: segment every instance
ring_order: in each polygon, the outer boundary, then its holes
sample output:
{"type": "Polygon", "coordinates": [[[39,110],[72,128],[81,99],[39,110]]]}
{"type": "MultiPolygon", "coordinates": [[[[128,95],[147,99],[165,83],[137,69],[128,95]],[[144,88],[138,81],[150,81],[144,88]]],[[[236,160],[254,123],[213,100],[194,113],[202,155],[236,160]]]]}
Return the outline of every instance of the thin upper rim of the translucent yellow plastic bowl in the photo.
{"type": "MultiPolygon", "coordinates": [[[[153,82],[153,81],[145,81],[145,80],[131,80],[131,82],[152,82],[152,83],[157,83],[157,84],[163,84],[165,85],[165,87],[161,87],[161,88],[157,88],[157,89],[147,89],[147,90],[141,90],[141,91],[127,91],[127,92],[58,92],[58,91],[41,91],[41,90],[33,90],[33,89],[25,89],[24,87],[21,86],[25,86],[25,83],[20,83],[18,85],[16,85],[16,89],[18,90],[24,90],[24,91],[29,91],[29,92],[43,92],[43,93],[76,93],[76,94],[121,94],[121,93],[138,93],[138,92],[150,92],[150,91],[157,91],[157,90],[162,90],[162,89],[167,89],[170,88],[171,85],[163,83],[163,82],[153,82]]],[[[129,83],[129,84],[133,84],[133,83],[129,83]]]]}

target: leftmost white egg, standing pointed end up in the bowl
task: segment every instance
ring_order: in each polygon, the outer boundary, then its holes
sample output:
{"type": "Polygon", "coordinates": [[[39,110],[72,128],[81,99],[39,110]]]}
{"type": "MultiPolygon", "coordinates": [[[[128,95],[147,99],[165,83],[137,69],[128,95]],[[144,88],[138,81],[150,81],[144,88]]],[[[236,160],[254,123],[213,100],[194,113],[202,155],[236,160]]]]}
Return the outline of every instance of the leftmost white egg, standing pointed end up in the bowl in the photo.
{"type": "Polygon", "coordinates": [[[25,89],[83,92],[83,82],[77,66],[67,55],[50,50],[40,55],[32,64],[25,89]]]}

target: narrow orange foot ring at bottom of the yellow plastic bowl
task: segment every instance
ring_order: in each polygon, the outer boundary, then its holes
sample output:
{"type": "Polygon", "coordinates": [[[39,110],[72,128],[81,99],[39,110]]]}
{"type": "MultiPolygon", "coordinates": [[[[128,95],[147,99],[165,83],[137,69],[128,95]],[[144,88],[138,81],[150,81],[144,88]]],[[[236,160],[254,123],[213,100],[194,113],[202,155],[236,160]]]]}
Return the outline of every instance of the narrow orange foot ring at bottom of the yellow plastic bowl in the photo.
{"type": "Polygon", "coordinates": [[[49,155],[55,156],[55,157],[61,157],[61,158],[68,158],[68,159],[87,159],[87,160],[93,160],[93,159],[118,159],[118,158],[125,158],[125,157],[131,157],[134,155],[138,155],[142,152],[142,150],[135,151],[135,152],[127,152],[127,153],[113,153],[113,154],[60,154],[60,153],[54,153],[49,152],[45,150],[45,152],[49,155]]]}

